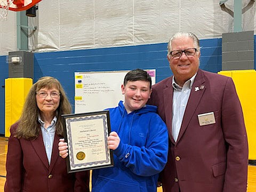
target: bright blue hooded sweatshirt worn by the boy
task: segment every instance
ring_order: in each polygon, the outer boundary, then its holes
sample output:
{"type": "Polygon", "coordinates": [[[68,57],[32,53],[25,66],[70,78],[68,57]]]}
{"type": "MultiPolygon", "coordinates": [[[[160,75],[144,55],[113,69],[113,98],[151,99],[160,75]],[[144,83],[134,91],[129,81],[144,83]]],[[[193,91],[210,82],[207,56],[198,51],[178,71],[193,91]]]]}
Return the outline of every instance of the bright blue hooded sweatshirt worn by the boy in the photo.
{"type": "Polygon", "coordinates": [[[157,107],[146,105],[127,114],[120,101],[108,110],[111,131],[117,132],[120,143],[113,150],[114,167],[93,170],[92,192],[157,191],[168,153],[167,127],[157,107]]]}

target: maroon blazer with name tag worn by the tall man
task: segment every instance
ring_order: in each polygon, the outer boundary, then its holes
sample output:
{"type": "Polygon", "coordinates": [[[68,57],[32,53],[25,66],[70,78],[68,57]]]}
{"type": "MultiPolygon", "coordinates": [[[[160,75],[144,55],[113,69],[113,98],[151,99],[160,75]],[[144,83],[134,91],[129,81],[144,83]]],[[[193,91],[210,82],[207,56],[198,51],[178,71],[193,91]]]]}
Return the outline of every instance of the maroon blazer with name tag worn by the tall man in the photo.
{"type": "Polygon", "coordinates": [[[161,173],[163,191],[245,192],[247,136],[232,79],[198,70],[177,142],[172,137],[172,97],[169,77],[153,86],[148,102],[158,107],[169,130],[168,161],[161,173]],[[210,112],[216,123],[199,126],[198,115],[210,112]]]}

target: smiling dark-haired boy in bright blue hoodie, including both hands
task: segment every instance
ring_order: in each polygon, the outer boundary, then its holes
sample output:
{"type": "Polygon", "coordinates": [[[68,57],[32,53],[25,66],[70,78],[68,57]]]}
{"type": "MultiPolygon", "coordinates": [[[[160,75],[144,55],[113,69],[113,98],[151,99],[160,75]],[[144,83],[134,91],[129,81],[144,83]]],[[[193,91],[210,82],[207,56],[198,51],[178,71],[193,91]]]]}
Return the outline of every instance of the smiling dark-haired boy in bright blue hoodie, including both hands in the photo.
{"type": "MultiPolygon", "coordinates": [[[[114,167],[93,170],[92,192],[155,192],[158,173],[167,161],[168,133],[146,105],[151,94],[151,77],[141,69],[129,71],[121,86],[124,102],[110,108],[111,133],[108,147],[114,153],[114,167]]],[[[67,143],[60,140],[60,155],[67,156],[67,143]]]]}

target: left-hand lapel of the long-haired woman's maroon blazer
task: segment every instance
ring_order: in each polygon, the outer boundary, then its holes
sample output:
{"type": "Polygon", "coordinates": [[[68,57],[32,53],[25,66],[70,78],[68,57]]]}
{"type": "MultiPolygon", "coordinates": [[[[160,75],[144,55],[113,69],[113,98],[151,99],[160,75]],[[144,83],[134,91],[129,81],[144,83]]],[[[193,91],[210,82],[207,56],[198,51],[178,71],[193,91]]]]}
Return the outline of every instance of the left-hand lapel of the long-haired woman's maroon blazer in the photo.
{"type": "Polygon", "coordinates": [[[38,157],[41,159],[41,161],[47,167],[47,169],[49,169],[49,163],[48,163],[47,155],[44,148],[42,133],[40,133],[35,140],[30,140],[30,142],[33,148],[35,149],[38,157]]]}

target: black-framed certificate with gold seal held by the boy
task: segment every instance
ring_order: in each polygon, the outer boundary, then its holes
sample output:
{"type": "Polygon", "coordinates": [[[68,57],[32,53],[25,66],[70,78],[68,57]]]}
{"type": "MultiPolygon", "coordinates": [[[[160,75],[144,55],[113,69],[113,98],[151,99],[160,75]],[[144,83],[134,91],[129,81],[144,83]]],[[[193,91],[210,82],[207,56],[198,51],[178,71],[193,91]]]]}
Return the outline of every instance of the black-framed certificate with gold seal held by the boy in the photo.
{"type": "Polygon", "coordinates": [[[107,145],[111,131],[108,110],[61,116],[68,143],[68,173],[114,166],[113,151],[107,145]]]}

